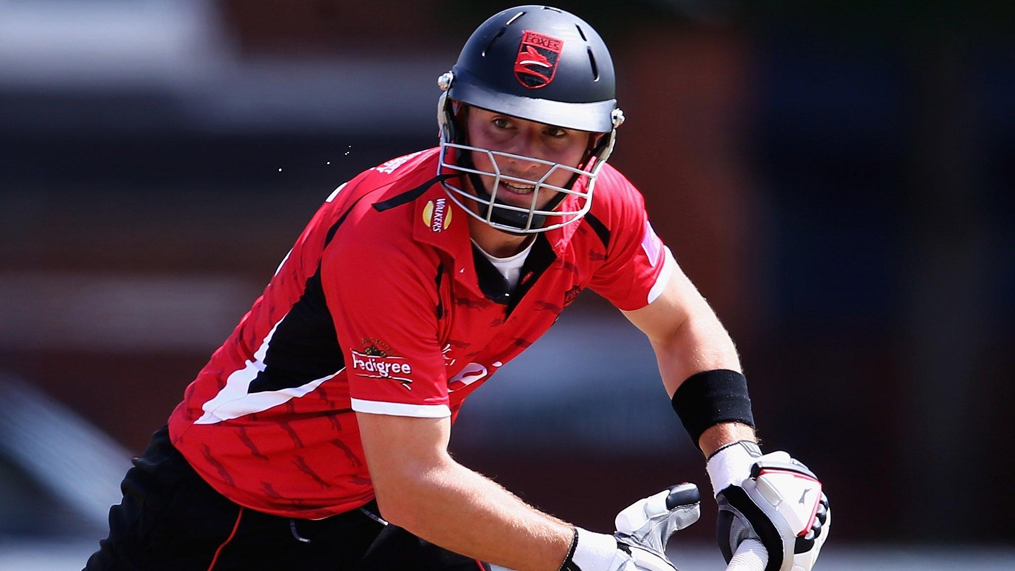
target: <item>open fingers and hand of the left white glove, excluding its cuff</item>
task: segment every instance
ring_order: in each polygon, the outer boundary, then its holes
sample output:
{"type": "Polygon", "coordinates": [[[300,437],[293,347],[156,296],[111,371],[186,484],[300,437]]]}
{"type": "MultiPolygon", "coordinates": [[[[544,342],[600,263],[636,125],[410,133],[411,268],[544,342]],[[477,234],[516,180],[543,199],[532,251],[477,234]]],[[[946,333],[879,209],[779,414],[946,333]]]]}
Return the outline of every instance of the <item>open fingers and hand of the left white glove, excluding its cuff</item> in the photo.
{"type": "Polygon", "coordinates": [[[670,537],[700,516],[701,494],[697,486],[679,484],[624,508],[614,520],[614,536],[622,544],[665,559],[670,537]]]}

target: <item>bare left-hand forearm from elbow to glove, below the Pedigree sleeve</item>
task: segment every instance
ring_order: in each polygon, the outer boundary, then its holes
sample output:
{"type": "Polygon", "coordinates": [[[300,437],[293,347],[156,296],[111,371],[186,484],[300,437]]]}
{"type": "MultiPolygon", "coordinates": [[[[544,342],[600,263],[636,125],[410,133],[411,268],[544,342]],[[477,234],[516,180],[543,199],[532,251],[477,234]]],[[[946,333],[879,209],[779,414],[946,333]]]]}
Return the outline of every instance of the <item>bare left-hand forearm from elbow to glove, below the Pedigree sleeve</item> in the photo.
{"type": "Polygon", "coordinates": [[[392,523],[467,557],[519,571],[556,571],[570,549],[569,524],[450,457],[401,490],[384,492],[382,515],[392,523]]]}

